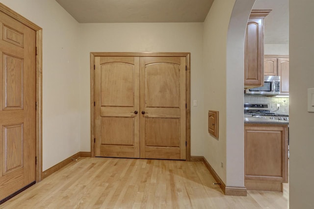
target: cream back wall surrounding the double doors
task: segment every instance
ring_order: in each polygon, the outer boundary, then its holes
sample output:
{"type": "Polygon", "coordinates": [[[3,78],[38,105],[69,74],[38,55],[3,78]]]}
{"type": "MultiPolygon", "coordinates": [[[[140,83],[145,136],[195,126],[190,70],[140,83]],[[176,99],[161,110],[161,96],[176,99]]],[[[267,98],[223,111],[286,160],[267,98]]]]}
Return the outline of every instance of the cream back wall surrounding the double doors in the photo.
{"type": "Polygon", "coordinates": [[[80,34],[81,151],[90,151],[90,52],[191,52],[191,155],[203,156],[203,23],[84,23],[80,34]]]}

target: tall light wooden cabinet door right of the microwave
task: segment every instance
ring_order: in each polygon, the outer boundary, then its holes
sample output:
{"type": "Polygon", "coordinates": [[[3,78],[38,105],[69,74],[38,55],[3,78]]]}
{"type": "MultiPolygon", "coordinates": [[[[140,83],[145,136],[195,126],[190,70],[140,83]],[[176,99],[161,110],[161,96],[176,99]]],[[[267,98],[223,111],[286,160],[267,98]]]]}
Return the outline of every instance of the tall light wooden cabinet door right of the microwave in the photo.
{"type": "Polygon", "coordinates": [[[289,94],[289,59],[278,58],[278,75],[280,76],[280,94],[289,94]]]}

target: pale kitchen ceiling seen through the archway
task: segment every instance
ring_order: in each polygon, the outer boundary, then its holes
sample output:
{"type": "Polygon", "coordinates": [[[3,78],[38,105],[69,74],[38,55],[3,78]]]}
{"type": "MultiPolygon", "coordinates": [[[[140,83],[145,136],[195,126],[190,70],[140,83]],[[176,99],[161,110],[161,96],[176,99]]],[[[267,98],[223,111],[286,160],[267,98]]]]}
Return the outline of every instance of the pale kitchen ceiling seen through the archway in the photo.
{"type": "Polygon", "coordinates": [[[253,9],[272,9],[264,22],[264,44],[289,44],[289,0],[256,0],[253,9]]]}

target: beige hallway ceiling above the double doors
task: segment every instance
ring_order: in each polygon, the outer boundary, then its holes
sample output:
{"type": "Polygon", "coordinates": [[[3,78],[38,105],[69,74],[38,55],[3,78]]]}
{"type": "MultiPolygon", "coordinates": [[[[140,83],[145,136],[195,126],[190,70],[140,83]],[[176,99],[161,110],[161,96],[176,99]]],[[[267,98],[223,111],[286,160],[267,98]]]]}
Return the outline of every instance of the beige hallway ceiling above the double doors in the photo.
{"type": "Polygon", "coordinates": [[[204,22],[213,0],[56,0],[78,23],[204,22]]]}

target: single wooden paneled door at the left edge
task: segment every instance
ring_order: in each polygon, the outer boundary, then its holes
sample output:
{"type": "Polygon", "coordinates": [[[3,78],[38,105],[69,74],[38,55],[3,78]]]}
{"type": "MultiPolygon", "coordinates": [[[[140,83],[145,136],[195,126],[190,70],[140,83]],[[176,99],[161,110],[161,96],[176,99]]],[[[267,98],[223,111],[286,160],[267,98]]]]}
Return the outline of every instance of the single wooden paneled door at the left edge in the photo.
{"type": "Polygon", "coordinates": [[[35,182],[35,31],[0,12],[0,200],[35,182]]]}

